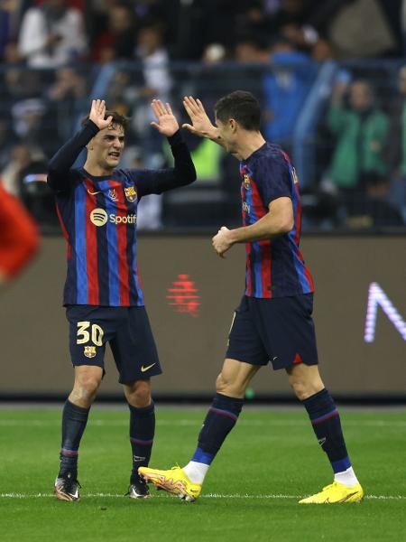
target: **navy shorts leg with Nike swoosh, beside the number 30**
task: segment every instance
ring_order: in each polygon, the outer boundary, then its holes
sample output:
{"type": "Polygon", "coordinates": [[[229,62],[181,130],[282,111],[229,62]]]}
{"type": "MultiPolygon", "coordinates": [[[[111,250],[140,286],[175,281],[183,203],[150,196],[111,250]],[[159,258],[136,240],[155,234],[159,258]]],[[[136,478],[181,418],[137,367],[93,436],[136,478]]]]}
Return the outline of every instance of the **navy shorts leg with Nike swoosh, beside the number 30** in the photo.
{"type": "Polygon", "coordinates": [[[121,384],[161,374],[161,364],[145,307],[126,309],[110,346],[121,384]]]}

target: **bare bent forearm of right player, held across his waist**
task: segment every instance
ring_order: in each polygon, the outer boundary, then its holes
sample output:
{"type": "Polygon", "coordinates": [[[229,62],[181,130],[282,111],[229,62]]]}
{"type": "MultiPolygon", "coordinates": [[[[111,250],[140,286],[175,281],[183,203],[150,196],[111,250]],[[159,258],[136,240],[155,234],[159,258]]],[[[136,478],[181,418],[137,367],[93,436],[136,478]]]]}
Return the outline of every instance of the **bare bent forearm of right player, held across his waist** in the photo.
{"type": "Polygon", "coordinates": [[[281,216],[272,216],[272,214],[268,213],[251,226],[231,229],[229,238],[233,244],[252,243],[280,237],[291,231],[292,228],[293,223],[291,220],[281,216]]]}

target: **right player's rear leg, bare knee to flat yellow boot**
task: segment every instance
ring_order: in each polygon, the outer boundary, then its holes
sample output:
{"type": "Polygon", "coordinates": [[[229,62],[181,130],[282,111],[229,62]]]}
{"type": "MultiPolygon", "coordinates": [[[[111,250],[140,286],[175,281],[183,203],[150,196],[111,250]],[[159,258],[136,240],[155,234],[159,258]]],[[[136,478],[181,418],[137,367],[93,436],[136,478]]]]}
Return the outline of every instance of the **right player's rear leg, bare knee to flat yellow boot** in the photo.
{"type": "Polygon", "coordinates": [[[334,472],[334,482],[301,503],[354,502],[362,500],[359,484],[348,453],[340,416],[333,398],[324,387],[317,365],[299,363],[287,369],[289,382],[305,406],[311,425],[334,472]]]}

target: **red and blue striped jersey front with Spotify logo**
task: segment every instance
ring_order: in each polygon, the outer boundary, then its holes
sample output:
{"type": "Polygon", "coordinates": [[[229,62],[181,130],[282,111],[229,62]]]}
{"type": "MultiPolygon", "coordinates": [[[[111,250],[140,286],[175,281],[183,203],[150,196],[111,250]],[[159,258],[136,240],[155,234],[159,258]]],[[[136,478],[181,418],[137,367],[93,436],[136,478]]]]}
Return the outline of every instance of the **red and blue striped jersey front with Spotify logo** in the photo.
{"type": "Polygon", "coordinates": [[[145,174],[92,177],[71,170],[71,191],[56,195],[68,242],[64,304],[143,305],[136,257],[137,203],[145,174]]]}

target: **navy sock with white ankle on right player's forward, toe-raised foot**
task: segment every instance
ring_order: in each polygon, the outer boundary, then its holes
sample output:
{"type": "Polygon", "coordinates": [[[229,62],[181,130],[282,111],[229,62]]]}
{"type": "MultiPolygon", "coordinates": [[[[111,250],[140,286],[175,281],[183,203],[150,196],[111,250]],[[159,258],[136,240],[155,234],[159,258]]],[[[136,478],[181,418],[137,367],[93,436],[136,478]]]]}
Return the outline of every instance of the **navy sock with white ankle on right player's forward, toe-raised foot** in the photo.
{"type": "Polygon", "coordinates": [[[198,435],[198,448],[183,471],[193,483],[203,483],[208,467],[216,457],[226,435],[233,429],[244,399],[217,393],[198,435]]]}

